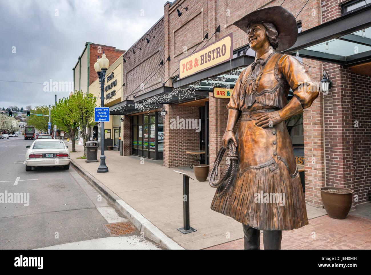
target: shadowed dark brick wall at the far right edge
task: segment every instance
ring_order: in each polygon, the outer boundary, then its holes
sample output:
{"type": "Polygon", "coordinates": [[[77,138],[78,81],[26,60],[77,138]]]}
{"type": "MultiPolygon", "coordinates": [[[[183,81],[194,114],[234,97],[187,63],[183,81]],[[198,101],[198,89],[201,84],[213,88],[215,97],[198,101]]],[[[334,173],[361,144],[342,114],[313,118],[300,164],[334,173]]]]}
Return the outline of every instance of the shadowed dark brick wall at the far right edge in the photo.
{"type": "Polygon", "coordinates": [[[355,205],[371,193],[371,77],[351,73],[355,205]],[[356,123],[358,122],[358,125],[356,123]],[[358,126],[358,127],[356,127],[358,126]]]}

